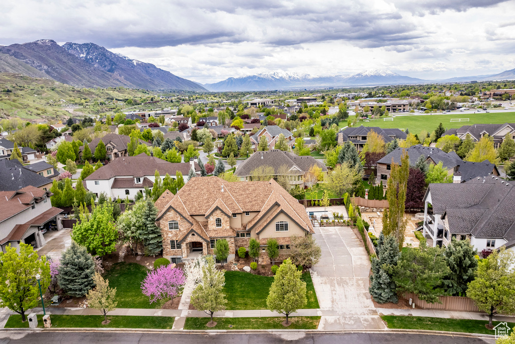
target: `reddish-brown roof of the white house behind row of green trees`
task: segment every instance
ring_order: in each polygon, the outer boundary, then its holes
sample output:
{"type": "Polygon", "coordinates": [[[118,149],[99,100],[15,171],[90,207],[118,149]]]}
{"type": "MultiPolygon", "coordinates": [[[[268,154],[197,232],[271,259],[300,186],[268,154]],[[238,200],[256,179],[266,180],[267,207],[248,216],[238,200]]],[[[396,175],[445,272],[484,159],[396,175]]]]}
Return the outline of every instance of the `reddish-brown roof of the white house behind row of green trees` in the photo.
{"type": "MultiPolygon", "coordinates": [[[[148,156],[141,153],[137,156],[125,156],[114,159],[107,165],[102,166],[88,177],[85,181],[108,180],[114,177],[144,177],[153,176],[159,171],[160,175],[176,175],[180,171],[187,175],[191,170],[190,162],[168,162],[155,156],[148,156]]],[[[200,166],[195,162],[195,171],[200,171],[200,166]]]]}

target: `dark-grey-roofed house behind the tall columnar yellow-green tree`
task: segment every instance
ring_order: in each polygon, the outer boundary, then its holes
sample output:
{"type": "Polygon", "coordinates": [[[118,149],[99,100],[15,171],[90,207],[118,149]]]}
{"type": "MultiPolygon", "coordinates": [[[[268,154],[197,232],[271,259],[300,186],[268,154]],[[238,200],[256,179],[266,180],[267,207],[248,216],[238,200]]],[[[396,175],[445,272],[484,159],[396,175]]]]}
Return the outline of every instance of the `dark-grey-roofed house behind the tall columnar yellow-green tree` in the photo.
{"type": "Polygon", "coordinates": [[[403,151],[409,156],[410,166],[415,166],[421,155],[423,155],[425,161],[431,165],[438,165],[438,163],[441,162],[443,168],[447,170],[448,175],[453,176],[454,183],[463,183],[477,176],[488,174],[499,175],[499,170],[497,170],[495,164],[488,160],[483,162],[463,161],[454,151],[445,153],[439,148],[424,147],[417,144],[410,148],[397,148],[377,160],[378,183],[383,181],[383,185],[386,187],[386,182],[390,177],[392,160],[394,163],[400,165],[403,151]]]}

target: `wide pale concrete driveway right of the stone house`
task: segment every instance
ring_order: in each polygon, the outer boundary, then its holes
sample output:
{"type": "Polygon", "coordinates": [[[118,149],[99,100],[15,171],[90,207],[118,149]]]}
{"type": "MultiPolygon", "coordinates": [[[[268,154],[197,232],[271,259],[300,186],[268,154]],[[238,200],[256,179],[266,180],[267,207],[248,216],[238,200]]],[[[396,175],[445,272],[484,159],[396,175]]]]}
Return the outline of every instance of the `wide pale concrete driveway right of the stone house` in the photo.
{"type": "Polygon", "coordinates": [[[311,268],[319,330],[385,329],[368,293],[370,260],[350,227],[316,227],[322,258],[311,268]]]}

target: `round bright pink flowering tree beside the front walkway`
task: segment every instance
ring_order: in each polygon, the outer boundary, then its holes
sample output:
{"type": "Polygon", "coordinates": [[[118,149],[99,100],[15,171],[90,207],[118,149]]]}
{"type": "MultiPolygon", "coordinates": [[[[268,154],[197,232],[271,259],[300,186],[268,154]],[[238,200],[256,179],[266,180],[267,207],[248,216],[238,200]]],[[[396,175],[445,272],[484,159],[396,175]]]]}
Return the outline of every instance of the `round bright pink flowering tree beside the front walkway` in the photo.
{"type": "Polygon", "coordinates": [[[186,279],[182,269],[161,266],[147,274],[141,283],[141,289],[152,303],[165,298],[175,298],[181,291],[184,282],[186,279]]]}

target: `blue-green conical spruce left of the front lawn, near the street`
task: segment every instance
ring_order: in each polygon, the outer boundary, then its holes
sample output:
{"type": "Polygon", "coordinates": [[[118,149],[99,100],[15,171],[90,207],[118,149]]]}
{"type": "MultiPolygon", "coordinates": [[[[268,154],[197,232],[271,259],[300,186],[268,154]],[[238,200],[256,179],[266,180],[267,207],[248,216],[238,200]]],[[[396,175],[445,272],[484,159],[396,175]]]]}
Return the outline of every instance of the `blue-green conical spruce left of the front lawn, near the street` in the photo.
{"type": "Polygon", "coordinates": [[[73,297],[83,297],[94,286],[95,262],[85,247],[72,241],[59,260],[57,280],[64,292],[73,297]]]}

